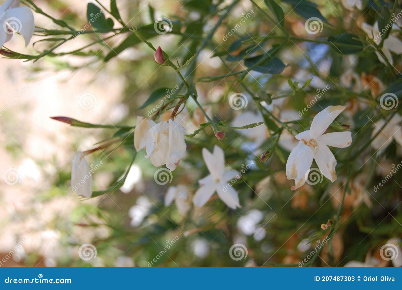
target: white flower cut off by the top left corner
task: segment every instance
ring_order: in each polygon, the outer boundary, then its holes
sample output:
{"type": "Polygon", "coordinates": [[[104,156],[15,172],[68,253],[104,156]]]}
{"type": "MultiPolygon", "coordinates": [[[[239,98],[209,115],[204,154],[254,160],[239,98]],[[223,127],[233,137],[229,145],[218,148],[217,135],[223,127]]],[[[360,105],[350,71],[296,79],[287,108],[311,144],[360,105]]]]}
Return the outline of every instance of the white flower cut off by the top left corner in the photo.
{"type": "Polygon", "coordinates": [[[20,0],[8,0],[0,6],[0,48],[14,32],[20,33],[28,46],[34,29],[33,13],[29,7],[20,7],[20,0]]]}

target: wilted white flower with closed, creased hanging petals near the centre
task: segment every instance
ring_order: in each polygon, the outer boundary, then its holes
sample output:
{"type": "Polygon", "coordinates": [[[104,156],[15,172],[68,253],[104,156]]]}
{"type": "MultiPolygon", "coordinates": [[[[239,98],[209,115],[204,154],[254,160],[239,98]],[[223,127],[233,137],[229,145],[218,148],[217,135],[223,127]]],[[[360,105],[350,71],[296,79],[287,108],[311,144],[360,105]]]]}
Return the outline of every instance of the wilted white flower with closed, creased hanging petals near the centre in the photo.
{"type": "Polygon", "coordinates": [[[174,171],[186,153],[184,135],[185,129],[171,119],[157,123],[149,131],[145,158],[151,158],[156,167],[166,164],[174,171]]]}

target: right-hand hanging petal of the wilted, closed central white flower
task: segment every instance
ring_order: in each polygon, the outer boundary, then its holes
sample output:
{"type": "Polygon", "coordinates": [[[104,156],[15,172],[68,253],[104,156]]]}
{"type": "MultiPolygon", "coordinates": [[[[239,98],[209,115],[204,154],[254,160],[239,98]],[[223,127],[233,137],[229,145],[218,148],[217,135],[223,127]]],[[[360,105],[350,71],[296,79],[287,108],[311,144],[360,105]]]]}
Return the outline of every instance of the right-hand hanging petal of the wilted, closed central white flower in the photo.
{"type": "Polygon", "coordinates": [[[173,171],[176,169],[178,162],[186,153],[186,142],[184,135],[186,130],[173,120],[169,121],[169,150],[166,160],[166,167],[173,171]]]}

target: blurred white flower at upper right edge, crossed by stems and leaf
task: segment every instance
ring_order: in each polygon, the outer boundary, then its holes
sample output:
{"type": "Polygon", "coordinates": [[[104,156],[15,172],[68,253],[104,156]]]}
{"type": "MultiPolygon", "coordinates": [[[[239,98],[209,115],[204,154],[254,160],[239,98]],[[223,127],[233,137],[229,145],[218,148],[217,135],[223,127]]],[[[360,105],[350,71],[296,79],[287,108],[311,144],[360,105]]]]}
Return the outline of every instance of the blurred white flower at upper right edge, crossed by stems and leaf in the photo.
{"type": "MultiPolygon", "coordinates": [[[[381,43],[381,35],[379,33],[378,29],[378,22],[376,21],[373,26],[363,22],[361,25],[361,29],[364,30],[365,33],[367,33],[367,36],[369,39],[373,39],[375,44],[380,44],[381,43]]],[[[382,34],[382,33],[381,33],[382,34]]],[[[381,48],[381,51],[384,53],[384,56],[387,58],[388,62],[393,65],[394,61],[391,55],[391,51],[396,53],[396,54],[401,54],[402,53],[402,41],[400,41],[398,38],[395,36],[388,36],[387,39],[384,40],[384,45],[381,48]]],[[[378,60],[382,62],[383,64],[387,65],[388,62],[384,60],[384,57],[381,56],[381,54],[378,51],[375,51],[375,54],[378,57],[378,60]]]]}

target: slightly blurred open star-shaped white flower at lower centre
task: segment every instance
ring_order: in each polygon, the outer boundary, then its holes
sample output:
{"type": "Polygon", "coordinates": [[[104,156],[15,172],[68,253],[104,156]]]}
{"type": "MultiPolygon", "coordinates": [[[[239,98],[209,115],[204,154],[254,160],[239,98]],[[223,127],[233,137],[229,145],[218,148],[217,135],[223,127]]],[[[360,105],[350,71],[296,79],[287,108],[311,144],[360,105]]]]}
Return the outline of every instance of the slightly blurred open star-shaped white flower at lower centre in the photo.
{"type": "Polygon", "coordinates": [[[228,185],[228,181],[234,179],[239,173],[235,170],[225,171],[225,155],[222,148],[215,145],[213,153],[203,148],[202,155],[210,174],[198,181],[201,187],[194,195],[194,205],[201,208],[216,191],[228,207],[240,208],[238,193],[228,185]]]}

